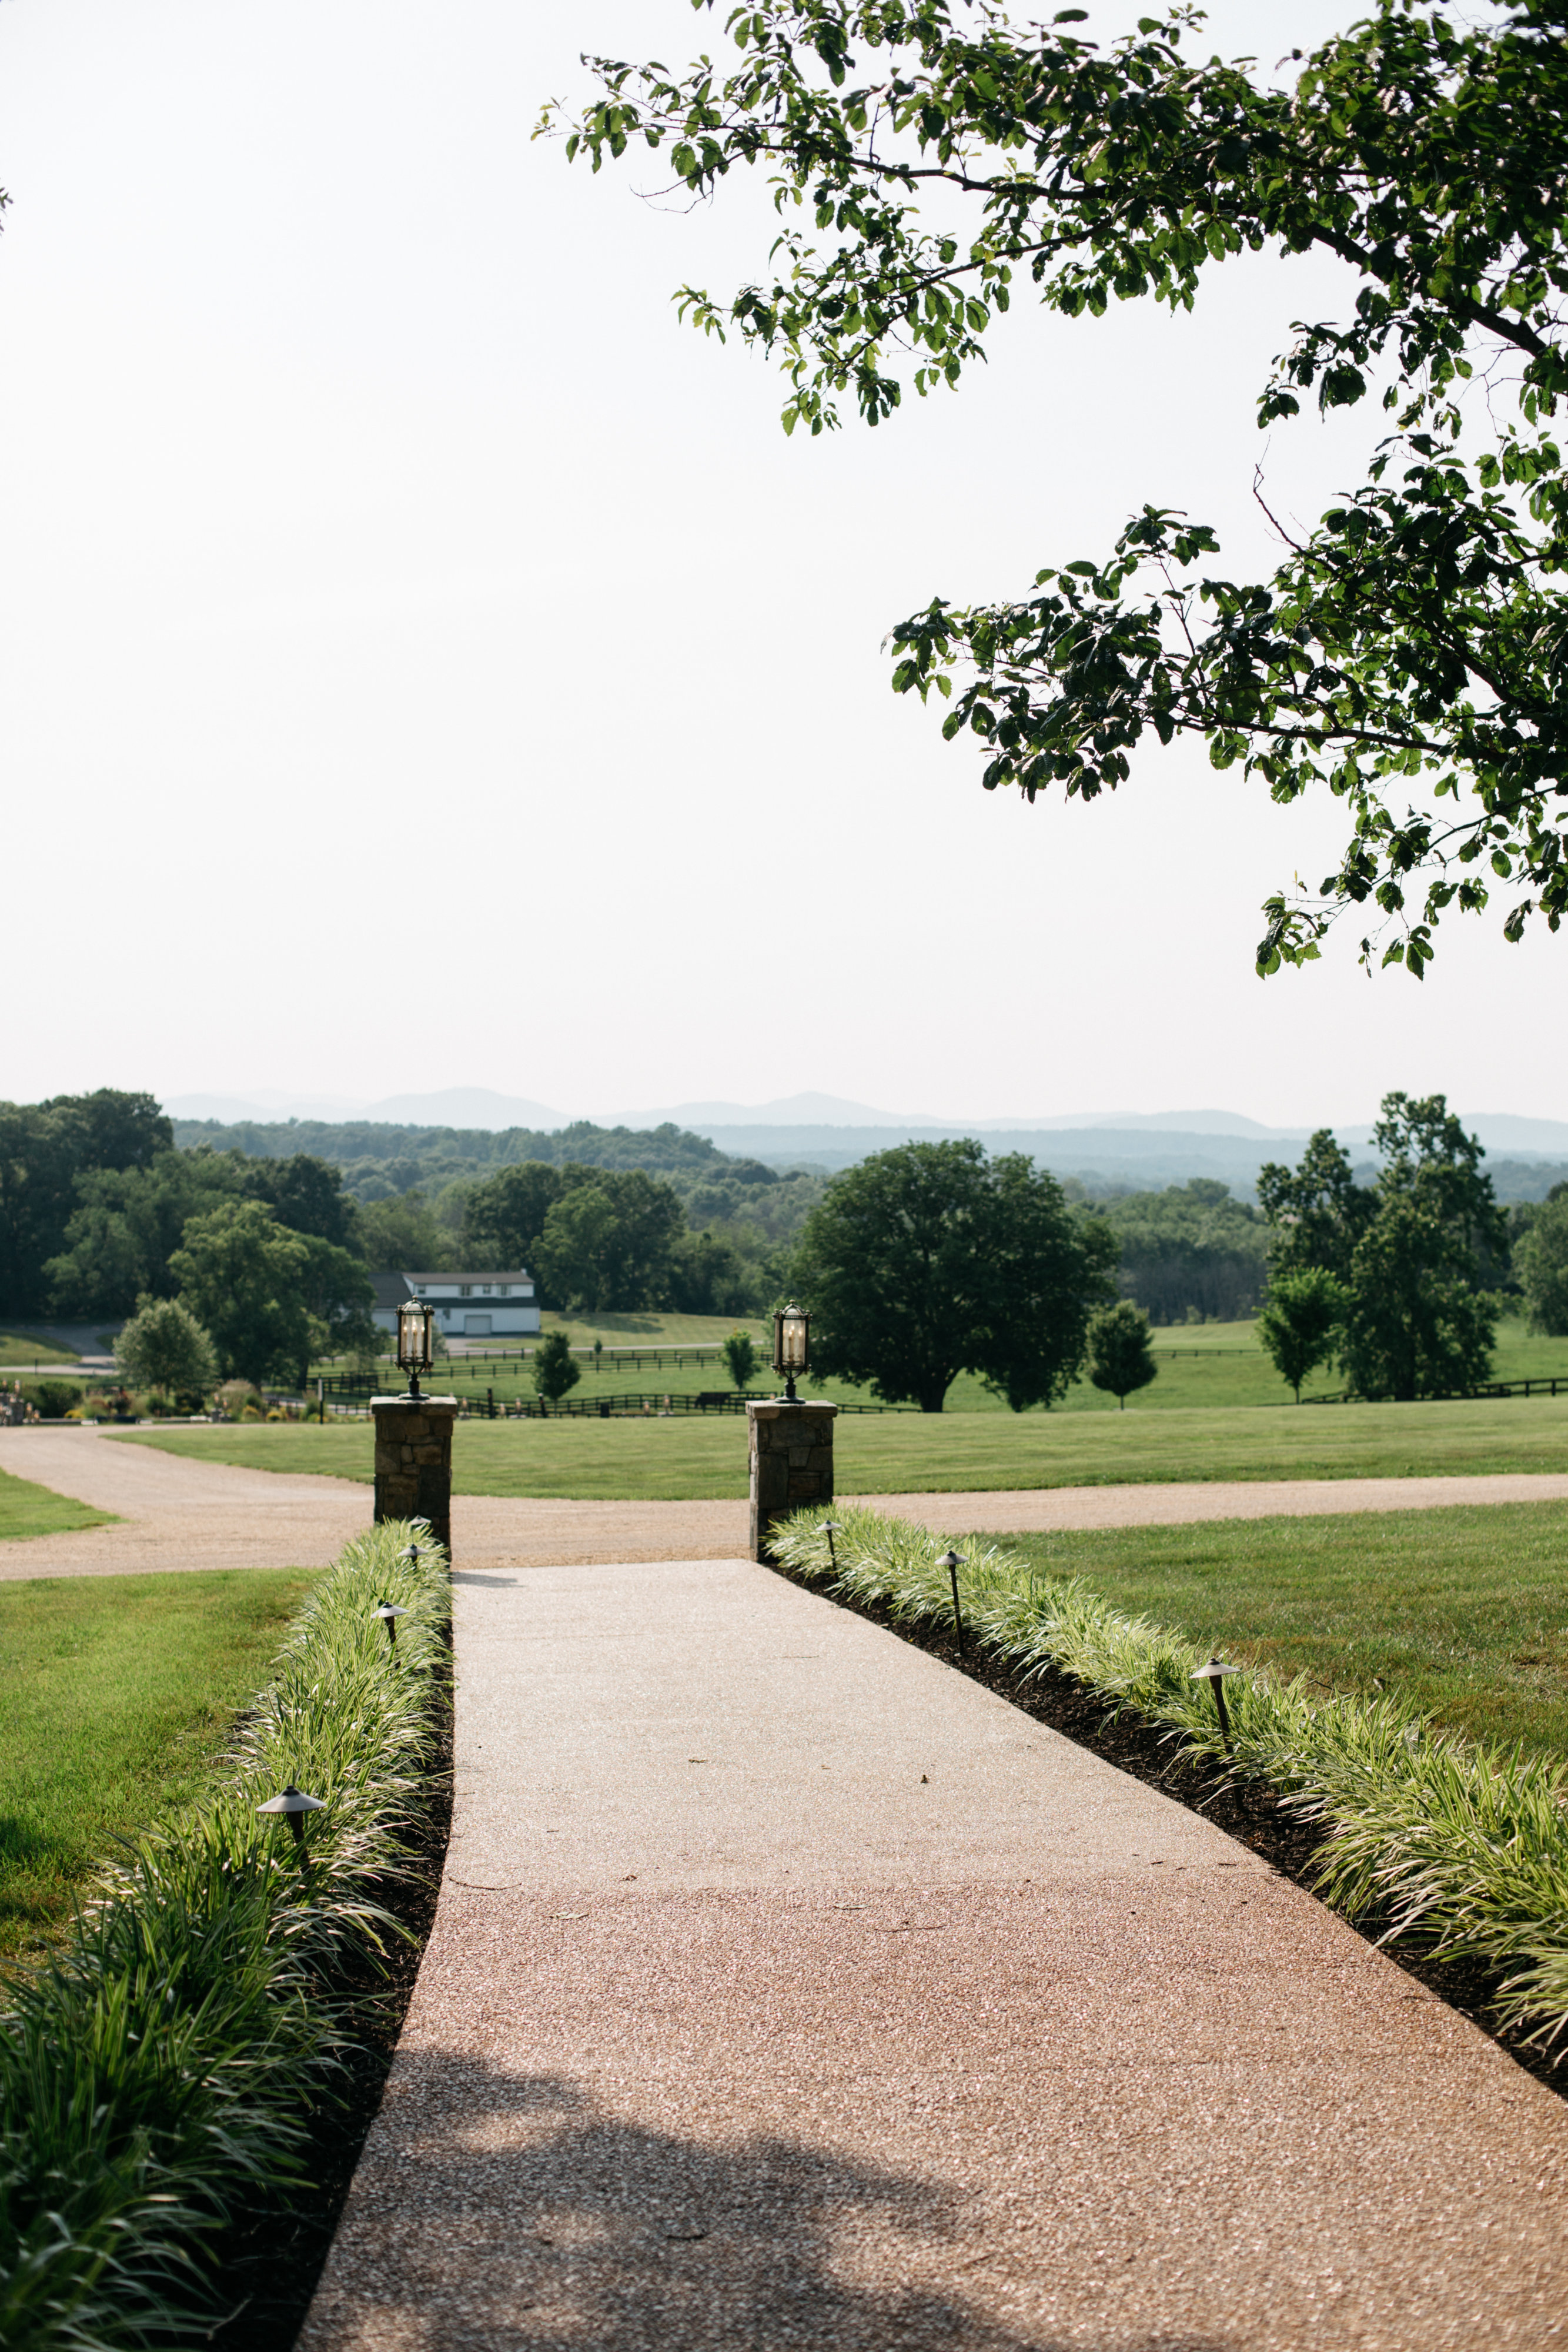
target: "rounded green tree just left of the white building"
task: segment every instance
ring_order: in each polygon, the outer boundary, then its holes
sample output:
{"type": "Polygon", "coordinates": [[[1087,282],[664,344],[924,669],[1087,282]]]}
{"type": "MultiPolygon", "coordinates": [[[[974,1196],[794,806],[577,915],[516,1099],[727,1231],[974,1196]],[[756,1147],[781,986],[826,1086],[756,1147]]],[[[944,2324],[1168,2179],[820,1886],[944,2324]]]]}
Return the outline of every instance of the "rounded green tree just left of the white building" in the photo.
{"type": "MultiPolygon", "coordinates": [[[[320,1244],[324,1247],[324,1244],[320,1244]]],[[[193,1216],[169,1258],[179,1296],[212,1334],[226,1376],[261,1388],[310,1357],[310,1242],[259,1200],[193,1216]]]]}

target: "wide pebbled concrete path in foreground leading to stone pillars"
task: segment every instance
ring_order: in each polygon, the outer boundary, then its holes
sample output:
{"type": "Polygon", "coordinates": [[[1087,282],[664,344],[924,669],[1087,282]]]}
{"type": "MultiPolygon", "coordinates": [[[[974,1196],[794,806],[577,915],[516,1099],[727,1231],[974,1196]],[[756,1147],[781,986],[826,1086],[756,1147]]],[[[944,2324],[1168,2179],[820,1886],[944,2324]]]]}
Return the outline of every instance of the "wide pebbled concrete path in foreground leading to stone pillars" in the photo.
{"type": "Polygon", "coordinates": [[[301,2352],[1563,2340],[1568,2107],[1199,1816],[741,1562],[456,1635],[301,2352]]]}

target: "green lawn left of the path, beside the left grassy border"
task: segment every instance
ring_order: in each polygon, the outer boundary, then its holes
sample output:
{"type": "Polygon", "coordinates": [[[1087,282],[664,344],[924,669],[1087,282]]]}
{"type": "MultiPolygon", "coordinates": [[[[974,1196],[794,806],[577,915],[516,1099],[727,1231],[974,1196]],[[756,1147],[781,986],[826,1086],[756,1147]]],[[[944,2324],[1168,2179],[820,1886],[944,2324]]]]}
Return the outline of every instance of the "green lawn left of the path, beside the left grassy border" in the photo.
{"type": "Polygon", "coordinates": [[[108,1842],[200,1785],[308,1588],[299,1569],[0,1585],[0,1955],[42,1950],[108,1842]]]}

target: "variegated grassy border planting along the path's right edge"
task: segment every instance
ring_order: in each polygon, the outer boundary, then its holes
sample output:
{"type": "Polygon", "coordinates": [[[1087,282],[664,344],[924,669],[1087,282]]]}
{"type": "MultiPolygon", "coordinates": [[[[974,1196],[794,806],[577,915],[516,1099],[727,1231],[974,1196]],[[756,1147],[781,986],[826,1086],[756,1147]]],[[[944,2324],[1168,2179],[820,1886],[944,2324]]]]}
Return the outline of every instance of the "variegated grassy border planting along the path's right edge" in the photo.
{"type": "MultiPolygon", "coordinates": [[[[952,1625],[947,1538],[844,1510],[832,1545],[813,1512],[771,1538],[778,1564],[893,1625],[952,1625]]],[[[1540,2058],[1568,2058],[1568,1769],[1526,1748],[1439,1729],[1396,1696],[1324,1693],[1307,1675],[1227,1679],[1229,1743],[1204,1656],[1114,1609],[1084,1578],[966,1541],[959,1592],[973,1649],[1030,1677],[1065,1675],[1107,1710],[1159,1726],[1173,1759],[1272,1799],[1314,1832],[1309,1882],[1378,1940],[1420,1950],[1441,1987],[1479,1964],[1490,2023],[1540,2058]]],[[[1425,1973],[1425,1971],[1422,1971],[1425,1973]]],[[[1559,2065],[1559,2074],[1561,2074],[1559,2065]]]]}

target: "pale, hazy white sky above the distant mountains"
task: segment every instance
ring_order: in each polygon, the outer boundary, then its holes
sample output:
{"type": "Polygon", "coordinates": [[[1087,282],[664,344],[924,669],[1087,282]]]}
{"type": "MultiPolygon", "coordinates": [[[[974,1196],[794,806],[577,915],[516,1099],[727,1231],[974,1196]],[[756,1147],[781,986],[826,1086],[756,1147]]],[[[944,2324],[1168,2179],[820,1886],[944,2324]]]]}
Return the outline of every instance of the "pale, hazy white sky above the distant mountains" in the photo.
{"type": "Polygon", "coordinates": [[[1347,278],[1020,308],[957,397],[785,440],[672,303],[764,270],[764,188],[693,214],[529,136],[583,47],[719,42],[684,0],[0,0],[0,1096],[1568,1117],[1568,946],[1455,920],[1415,985],[1342,927],[1260,983],[1333,802],[1152,748],[1030,809],[889,691],[896,621],[1145,499],[1269,567],[1253,466],[1309,522],[1378,428],[1253,423],[1347,278]]]}

